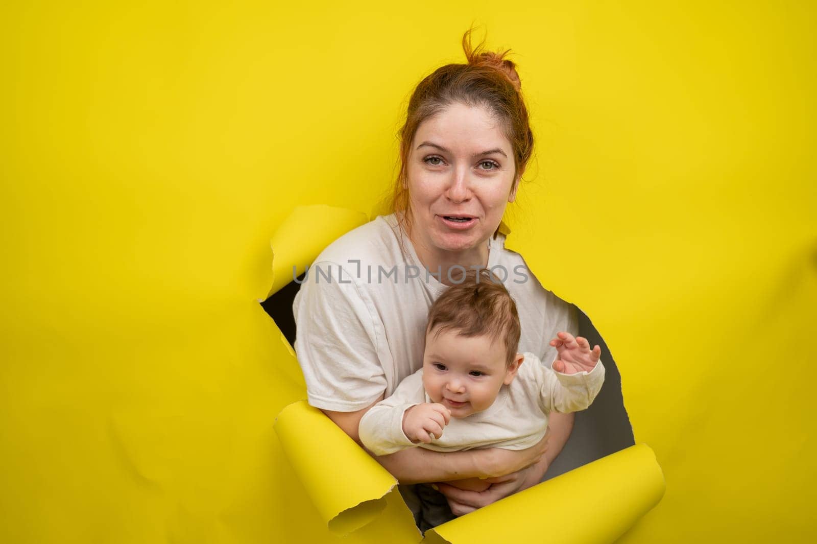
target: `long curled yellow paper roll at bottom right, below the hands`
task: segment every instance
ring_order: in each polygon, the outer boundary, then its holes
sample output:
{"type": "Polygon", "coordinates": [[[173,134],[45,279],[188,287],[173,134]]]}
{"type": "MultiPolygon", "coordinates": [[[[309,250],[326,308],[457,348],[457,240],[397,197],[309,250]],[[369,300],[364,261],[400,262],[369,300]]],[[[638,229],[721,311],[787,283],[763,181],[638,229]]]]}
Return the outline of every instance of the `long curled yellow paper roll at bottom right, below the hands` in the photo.
{"type": "Polygon", "coordinates": [[[423,542],[613,542],[663,493],[653,451],[636,444],[439,525],[423,542]]]}

